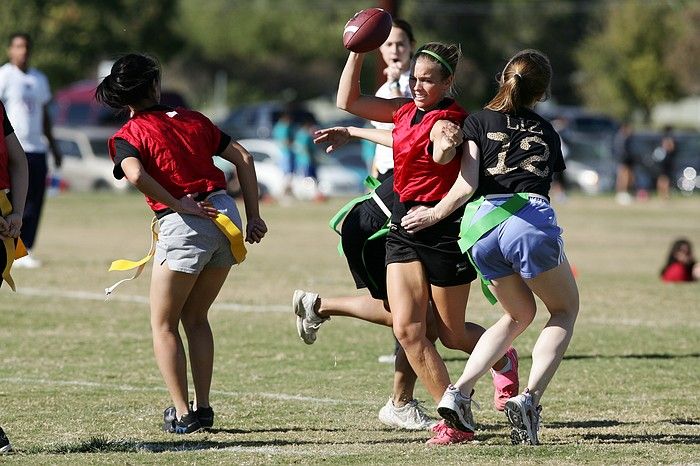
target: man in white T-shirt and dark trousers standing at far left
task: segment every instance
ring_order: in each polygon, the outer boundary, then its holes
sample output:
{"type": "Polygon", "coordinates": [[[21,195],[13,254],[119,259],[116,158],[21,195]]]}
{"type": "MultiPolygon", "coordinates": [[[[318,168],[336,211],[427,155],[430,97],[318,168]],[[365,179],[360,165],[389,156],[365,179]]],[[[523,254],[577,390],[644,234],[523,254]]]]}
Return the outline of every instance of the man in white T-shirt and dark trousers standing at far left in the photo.
{"type": "MultiPolygon", "coordinates": [[[[48,142],[56,168],[61,166],[61,152],[51,131],[48,104],[51,101],[49,81],[42,72],[29,67],[32,39],[29,34],[10,34],[7,54],[9,63],[0,67],[0,99],[5,103],[15,134],[29,166],[29,190],[22,219],[22,241],[31,252],[34,247],[46,192],[48,142]]],[[[31,254],[15,262],[15,267],[37,268],[41,262],[31,254]]]]}

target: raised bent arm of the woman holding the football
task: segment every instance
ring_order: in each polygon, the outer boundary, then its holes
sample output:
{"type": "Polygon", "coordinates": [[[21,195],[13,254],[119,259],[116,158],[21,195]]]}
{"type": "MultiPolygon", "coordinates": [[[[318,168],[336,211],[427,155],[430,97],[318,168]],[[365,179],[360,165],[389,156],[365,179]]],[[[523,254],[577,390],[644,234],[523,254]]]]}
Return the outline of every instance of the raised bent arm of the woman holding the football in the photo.
{"type": "Polygon", "coordinates": [[[360,73],[365,54],[350,52],[338,83],[338,108],[368,120],[391,123],[394,112],[410,99],[399,97],[383,99],[363,94],[360,89],[360,73]]]}

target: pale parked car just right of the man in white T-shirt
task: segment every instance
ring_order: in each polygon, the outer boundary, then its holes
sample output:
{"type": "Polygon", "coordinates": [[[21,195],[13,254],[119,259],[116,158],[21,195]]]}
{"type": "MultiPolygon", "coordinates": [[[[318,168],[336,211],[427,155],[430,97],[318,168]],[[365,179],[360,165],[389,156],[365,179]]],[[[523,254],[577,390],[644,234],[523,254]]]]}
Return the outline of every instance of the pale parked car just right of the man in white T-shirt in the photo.
{"type": "Polygon", "coordinates": [[[63,163],[58,170],[51,165],[52,176],[75,191],[127,190],[129,182],[112,175],[114,164],[109,158],[107,140],[114,131],[104,127],[54,127],[54,139],[63,154],[63,163]]]}

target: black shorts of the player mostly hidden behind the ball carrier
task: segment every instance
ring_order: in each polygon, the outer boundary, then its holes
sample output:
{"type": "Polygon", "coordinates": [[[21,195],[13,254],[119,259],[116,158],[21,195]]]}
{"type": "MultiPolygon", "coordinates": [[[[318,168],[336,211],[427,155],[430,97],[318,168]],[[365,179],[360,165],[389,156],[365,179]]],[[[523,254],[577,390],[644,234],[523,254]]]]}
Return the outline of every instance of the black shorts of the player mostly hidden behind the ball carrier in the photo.
{"type": "Polygon", "coordinates": [[[370,202],[353,207],[343,220],[341,241],[348,267],[357,288],[367,288],[375,299],[387,299],[386,294],[386,236],[369,240],[386,223],[386,216],[377,214],[370,202]]]}

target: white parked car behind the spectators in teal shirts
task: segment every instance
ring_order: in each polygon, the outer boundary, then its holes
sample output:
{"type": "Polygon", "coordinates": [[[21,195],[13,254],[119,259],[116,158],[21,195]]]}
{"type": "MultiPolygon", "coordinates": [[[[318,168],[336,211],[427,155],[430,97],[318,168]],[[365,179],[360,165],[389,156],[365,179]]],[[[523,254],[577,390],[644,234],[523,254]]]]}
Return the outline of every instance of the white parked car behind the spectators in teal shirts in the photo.
{"type": "MultiPolygon", "coordinates": [[[[253,156],[261,196],[282,197],[282,151],[277,143],[271,139],[241,139],[238,142],[253,156]]],[[[224,172],[227,180],[234,178],[235,169],[230,162],[215,157],[215,163],[224,172]]],[[[319,157],[317,172],[318,189],[326,197],[355,196],[364,190],[363,178],[332,158],[319,157]]],[[[301,176],[294,177],[292,192],[299,199],[313,199],[316,194],[311,180],[301,176]]]]}

